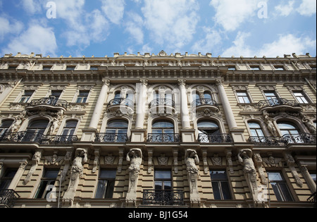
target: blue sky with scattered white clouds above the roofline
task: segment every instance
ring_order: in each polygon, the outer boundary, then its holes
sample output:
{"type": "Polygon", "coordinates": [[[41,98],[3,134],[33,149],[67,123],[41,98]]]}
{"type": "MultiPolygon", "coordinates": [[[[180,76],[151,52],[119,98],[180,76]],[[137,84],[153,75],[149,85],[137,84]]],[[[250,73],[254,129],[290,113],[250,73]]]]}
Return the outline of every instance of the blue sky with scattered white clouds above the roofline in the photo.
{"type": "Polygon", "coordinates": [[[316,0],[0,0],[0,54],[316,56],[316,0]]]}

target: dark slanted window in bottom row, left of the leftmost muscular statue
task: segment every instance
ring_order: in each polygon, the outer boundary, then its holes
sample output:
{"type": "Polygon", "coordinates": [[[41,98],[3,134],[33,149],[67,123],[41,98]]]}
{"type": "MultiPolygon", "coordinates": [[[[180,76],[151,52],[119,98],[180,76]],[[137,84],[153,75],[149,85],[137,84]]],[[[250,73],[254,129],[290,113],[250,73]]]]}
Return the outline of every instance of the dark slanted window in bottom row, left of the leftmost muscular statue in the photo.
{"type": "Polygon", "coordinates": [[[44,171],[41,183],[39,184],[39,189],[35,195],[35,199],[47,198],[46,195],[51,192],[52,187],[50,186],[54,186],[58,172],[59,171],[55,169],[44,171]]]}

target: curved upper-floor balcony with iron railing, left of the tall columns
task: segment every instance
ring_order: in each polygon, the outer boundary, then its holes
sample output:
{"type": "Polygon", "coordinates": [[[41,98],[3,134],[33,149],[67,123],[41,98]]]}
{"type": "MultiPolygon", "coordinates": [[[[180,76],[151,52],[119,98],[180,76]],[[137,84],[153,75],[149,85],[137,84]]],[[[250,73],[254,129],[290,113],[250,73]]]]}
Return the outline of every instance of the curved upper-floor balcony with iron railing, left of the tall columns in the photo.
{"type": "Polygon", "coordinates": [[[60,110],[66,111],[67,106],[68,106],[67,101],[49,97],[49,98],[32,100],[29,104],[27,104],[25,109],[29,111],[37,111],[42,109],[46,109],[49,111],[60,111],[60,110]]]}

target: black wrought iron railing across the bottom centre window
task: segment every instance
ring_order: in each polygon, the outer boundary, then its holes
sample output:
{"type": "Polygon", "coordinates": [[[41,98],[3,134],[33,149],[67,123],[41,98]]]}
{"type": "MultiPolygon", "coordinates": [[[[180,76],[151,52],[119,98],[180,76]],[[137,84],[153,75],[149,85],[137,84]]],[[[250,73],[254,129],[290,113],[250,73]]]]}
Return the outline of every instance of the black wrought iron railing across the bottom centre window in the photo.
{"type": "Polygon", "coordinates": [[[143,190],[144,205],[184,206],[182,190],[143,190]]]}

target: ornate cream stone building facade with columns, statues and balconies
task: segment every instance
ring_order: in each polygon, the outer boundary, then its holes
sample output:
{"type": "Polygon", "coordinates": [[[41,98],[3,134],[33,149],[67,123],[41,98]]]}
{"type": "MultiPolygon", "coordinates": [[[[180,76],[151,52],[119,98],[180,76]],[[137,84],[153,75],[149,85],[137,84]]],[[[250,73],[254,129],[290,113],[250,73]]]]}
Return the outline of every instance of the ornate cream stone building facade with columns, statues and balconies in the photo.
{"type": "Polygon", "coordinates": [[[0,206],[313,207],[316,58],[0,61],[0,206]]]}

